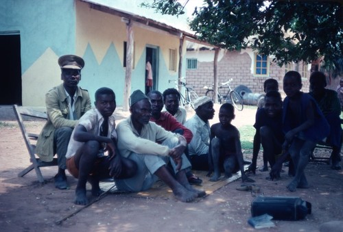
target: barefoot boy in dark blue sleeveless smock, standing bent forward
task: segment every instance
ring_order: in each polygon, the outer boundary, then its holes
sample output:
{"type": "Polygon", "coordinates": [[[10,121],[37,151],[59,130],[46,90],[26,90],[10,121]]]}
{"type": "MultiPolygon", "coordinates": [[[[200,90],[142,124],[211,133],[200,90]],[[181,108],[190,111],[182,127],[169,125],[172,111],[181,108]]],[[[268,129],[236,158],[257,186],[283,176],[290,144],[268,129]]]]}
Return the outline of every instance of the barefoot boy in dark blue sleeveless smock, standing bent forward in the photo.
{"type": "Polygon", "coordinates": [[[283,90],[287,95],[283,102],[283,149],[288,149],[296,170],[294,179],[287,185],[291,192],[308,188],[304,170],[309,156],[316,142],[327,137],[330,129],[316,101],[300,91],[302,86],[301,76],[296,71],[289,71],[283,77],[283,90]]]}

